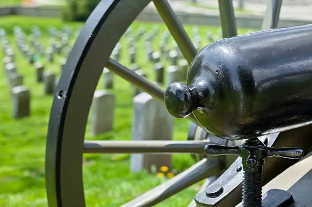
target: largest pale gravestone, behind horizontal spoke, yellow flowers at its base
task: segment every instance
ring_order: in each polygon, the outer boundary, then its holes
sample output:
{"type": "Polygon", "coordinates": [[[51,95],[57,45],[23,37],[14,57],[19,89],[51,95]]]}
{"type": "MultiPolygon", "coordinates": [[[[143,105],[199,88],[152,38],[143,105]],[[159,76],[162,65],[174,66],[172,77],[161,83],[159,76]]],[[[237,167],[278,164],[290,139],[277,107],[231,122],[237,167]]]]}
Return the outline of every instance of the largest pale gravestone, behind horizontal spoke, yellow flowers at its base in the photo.
{"type": "MultiPolygon", "coordinates": [[[[134,116],[132,125],[133,140],[172,140],[174,118],[161,101],[147,93],[133,98],[134,116]]],[[[171,168],[170,154],[131,154],[131,171],[151,171],[155,166],[171,168]]]]}

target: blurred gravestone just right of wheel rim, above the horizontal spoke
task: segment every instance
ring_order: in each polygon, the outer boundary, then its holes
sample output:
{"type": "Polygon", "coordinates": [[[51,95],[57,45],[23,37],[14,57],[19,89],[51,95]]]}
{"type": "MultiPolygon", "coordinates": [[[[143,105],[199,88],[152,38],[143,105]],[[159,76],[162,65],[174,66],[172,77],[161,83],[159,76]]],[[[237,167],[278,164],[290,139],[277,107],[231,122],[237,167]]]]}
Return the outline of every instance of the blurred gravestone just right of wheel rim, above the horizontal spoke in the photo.
{"type": "Polygon", "coordinates": [[[108,90],[94,92],[91,106],[91,135],[113,131],[115,96],[108,90]]]}

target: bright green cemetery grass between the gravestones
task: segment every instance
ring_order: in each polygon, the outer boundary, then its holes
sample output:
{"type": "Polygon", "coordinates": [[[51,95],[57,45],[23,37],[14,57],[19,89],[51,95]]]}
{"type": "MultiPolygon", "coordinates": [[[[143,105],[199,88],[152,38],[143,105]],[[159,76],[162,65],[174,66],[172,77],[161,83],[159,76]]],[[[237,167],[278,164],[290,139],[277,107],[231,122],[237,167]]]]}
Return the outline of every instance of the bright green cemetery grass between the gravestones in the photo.
{"type": "MultiPolygon", "coordinates": [[[[10,95],[10,87],[7,84],[3,63],[0,68],[0,206],[47,206],[44,162],[46,133],[49,120],[53,95],[44,94],[43,83],[36,82],[36,71],[34,65],[30,65],[17,48],[13,37],[14,25],[19,25],[23,31],[30,35],[31,25],[37,25],[43,35],[40,42],[47,47],[49,36],[47,26],[52,25],[61,29],[64,22],[60,19],[35,18],[24,16],[8,16],[0,18],[0,27],[8,33],[10,45],[15,52],[15,63],[17,70],[23,75],[24,85],[31,91],[31,116],[22,119],[13,119],[13,104],[10,95]]],[[[72,28],[82,27],[82,23],[66,22],[72,28]]],[[[154,27],[154,23],[134,22],[133,31],[137,31],[144,24],[146,31],[154,27]]],[[[157,23],[160,33],[166,30],[163,23],[157,23]]],[[[192,26],[187,25],[186,30],[191,34],[192,26]]],[[[202,38],[201,45],[207,45],[206,32],[210,30],[215,35],[218,28],[198,27],[202,38]]],[[[241,30],[241,33],[247,30],[241,30]]],[[[158,35],[152,42],[155,50],[159,51],[158,35]]],[[[70,40],[73,45],[75,38],[70,40]]],[[[172,38],[169,43],[171,44],[172,38]]],[[[127,51],[127,42],[123,37],[120,62],[130,65],[127,51]]],[[[137,43],[136,62],[148,75],[149,80],[154,80],[153,65],[145,57],[144,40],[141,38],[137,43]]],[[[172,46],[170,46],[172,48],[172,46]]],[[[0,58],[3,60],[4,53],[1,51],[0,58]]],[[[46,71],[61,74],[59,64],[61,56],[57,55],[53,63],[48,63],[44,57],[40,61],[44,63],[46,71]]],[[[169,66],[166,61],[162,62],[169,66]]],[[[90,68],[92,72],[92,68],[90,68]]],[[[98,89],[102,89],[102,77],[98,83],[98,89]]],[[[129,83],[117,75],[114,76],[114,89],[112,92],[116,97],[114,130],[113,132],[91,137],[89,124],[86,129],[88,140],[131,140],[133,120],[133,90],[129,83]]],[[[79,114],[77,114],[79,116],[79,114]]],[[[88,122],[89,123],[89,122],[88,122]]],[[[187,132],[190,121],[176,119],[174,124],[174,140],[187,140],[187,132]]],[[[195,163],[189,154],[173,155],[173,169],[177,172],[183,171],[195,163]]],[[[84,189],[87,206],[120,206],[121,204],[135,198],[145,191],[161,184],[166,176],[147,172],[130,173],[129,156],[126,154],[85,154],[84,155],[84,189]]],[[[158,206],[187,206],[196,195],[200,184],[178,193],[167,199],[158,206]]]]}

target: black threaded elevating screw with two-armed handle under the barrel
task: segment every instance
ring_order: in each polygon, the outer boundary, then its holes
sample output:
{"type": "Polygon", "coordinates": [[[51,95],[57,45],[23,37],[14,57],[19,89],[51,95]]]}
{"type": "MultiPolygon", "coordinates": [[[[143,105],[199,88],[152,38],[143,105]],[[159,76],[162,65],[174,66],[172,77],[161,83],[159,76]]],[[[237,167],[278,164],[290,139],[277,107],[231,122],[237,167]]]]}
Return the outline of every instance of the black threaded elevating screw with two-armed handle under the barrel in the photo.
{"type": "MultiPolygon", "coordinates": [[[[241,146],[205,146],[206,155],[239,154],[243,165],[243,206],[262,206],[262,180],[264,160],[269,156],[300,159],[303,150],[295,147],[268,148],[258,138],[250,138],[241,146]],[[269,151],[269,153],[268,153],[269,151]]],[[[214,193],[214,192],[213,192],[214,193]]],[[[220,193],[221,194],[221,193],[220,193]]],[[[214,195],[214,194],[213,194],[214,195]]],[[[211,197],[211,196],[209,196],[211,197]]]]}

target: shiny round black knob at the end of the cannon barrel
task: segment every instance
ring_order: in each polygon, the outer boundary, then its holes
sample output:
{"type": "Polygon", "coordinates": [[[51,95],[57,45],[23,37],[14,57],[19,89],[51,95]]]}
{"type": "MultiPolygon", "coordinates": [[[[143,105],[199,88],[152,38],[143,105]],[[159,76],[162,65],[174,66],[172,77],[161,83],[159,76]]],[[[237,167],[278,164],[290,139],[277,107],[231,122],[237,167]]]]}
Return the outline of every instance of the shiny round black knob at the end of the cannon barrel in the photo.
{"type": "Polygon", "coordinates": [[[165,105],[169,113],[176,118],[185,118],[197,109],[197,93],[182,82],[175,82],[168,86],[165,92],[165,105]]]}

